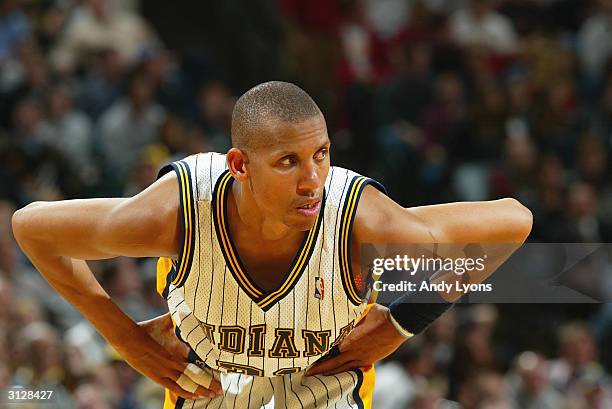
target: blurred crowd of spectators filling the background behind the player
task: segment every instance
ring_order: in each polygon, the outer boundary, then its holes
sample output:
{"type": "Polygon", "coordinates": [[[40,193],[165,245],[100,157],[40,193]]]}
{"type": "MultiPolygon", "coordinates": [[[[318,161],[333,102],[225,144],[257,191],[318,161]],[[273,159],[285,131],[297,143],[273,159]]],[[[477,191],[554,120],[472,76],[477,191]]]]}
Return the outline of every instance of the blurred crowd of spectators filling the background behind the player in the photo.
{"type": "MultiPolygon", "coordinates": [[[[309,92],[334,164],[404,206],[512,196],[530,240],[611,241],[612,1],[180,3],[0,0],[0,390],[160,407],[27,262],[10,217],[133,195],[170,160],[226,151],[235,99],[266,80],[309,92]]],[[[154,261],[91,267],[132,318],[165,311],[154,261]]],[[[610,317],[458,306],[379,365],[374,407],[612,408],[610,317]]]]}

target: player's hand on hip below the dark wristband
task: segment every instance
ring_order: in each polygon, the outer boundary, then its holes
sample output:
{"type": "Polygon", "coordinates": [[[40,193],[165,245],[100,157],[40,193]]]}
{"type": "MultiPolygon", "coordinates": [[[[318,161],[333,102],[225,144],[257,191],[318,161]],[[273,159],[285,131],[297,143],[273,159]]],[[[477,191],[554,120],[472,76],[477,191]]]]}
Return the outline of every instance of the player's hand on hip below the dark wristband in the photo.
{"type": "Polygon", "coordinates": [[[374,304],[340,343],[340,354],[315,363],[306,375],[335,375],[372,365],[392,354],[406,338],[387,319],[388,308],[374,304]]]}

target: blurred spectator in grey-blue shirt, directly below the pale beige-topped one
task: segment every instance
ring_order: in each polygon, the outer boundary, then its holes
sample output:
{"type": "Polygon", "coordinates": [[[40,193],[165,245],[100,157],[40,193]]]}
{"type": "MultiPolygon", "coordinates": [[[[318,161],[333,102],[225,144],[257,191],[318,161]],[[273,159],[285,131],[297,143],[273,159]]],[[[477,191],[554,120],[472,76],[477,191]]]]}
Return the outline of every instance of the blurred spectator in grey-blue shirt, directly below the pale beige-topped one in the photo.
{"type": "Polygon", "coordinates": [[[140,74],[132,77],[128,97],[115,102],[98,123],[106,171],[122,184],[134,166],[134,158],[152,143],[165,117],[153,100],[154,89],[140,74]]]}

